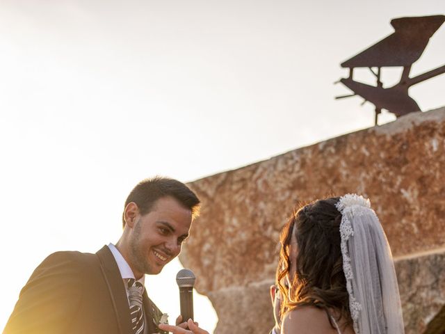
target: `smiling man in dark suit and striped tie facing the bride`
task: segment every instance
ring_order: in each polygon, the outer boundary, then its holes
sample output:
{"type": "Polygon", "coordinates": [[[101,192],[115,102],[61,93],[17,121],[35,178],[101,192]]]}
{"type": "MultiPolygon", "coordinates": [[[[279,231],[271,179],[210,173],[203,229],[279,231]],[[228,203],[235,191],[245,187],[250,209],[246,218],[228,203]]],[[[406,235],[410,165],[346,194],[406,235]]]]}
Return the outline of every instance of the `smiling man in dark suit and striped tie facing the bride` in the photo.
{"type": "MultiPolygon", "coordinates": [[[[58,252],[39,266],[19,295],[3,334],[152,334],[161,311],[143,287],[179,255],[200,200],[163,177],[129,194],[117,244],[95,254],[58,252]]],[[[183,325],[185,327],[185,325],[183,325]]]]}

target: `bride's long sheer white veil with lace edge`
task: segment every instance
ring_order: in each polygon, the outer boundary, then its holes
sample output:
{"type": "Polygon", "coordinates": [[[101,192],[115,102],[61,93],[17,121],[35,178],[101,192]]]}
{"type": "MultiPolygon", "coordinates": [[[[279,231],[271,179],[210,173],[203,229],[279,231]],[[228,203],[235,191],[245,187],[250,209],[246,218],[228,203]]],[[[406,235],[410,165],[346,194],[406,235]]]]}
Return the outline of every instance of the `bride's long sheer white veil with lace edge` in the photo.
{"type": "Polygon", "coordinates": [[[339,200],[341,252],[356,334],[404,333],[394,262],[385,232],[369,200],[339,200]]]}

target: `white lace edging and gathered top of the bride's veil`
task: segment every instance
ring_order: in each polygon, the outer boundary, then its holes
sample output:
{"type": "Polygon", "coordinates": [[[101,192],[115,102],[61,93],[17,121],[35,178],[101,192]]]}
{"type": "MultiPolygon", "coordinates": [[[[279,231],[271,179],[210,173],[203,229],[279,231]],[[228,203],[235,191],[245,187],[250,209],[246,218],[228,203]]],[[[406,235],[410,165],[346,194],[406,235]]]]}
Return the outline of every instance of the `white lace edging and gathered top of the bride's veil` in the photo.
{"type": "Polygon", "coordinates": [[[335,205],[339,212],[341,213],[341,224],[340,224],[340,236],[341,236],[341,255],[343,257],[343,272],[346,278],[346,289],[348,289],[349,294],[349,309],[350,315],[353,318],[353,326],[355,334],[359,334],[359,315],[362,310],[362,305],[355,299],[353,291],[353,269],[350,264],[350,256],[348,250],[348,239],[354,235],[353,226],[348,219],[347,213],[353,215],[362,215],[366,210],[371,209],[371,203],[362,196],[355,193],[348,193],[342,196],[335,205]]]}

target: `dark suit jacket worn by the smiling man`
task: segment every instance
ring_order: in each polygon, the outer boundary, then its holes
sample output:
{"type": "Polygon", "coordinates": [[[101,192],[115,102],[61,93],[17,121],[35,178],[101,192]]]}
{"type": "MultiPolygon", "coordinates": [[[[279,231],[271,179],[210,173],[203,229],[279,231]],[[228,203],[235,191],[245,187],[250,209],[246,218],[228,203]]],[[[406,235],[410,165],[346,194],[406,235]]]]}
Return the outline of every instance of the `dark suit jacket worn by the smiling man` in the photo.
{"type": "MultiPolygon", "coordinates": [[[[143,296],[147,333],[161,312],[143,296]]],[[[35,269],[3,334],[129,334],[127,292],[108,246],[96,254],[58,252],[35,269]]]]}

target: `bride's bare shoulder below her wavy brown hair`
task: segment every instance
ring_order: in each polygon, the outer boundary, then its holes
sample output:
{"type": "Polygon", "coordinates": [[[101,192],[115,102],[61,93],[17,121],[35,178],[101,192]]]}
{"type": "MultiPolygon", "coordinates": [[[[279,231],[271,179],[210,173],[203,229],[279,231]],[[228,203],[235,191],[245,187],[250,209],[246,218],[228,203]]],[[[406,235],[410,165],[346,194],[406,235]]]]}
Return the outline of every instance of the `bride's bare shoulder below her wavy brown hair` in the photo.
{"type": "Polygon", "coordinates": [[[325,310],[315,306],[300,306],[286,313],[282,321],[282,334],[334,334],[325,310]]]}

